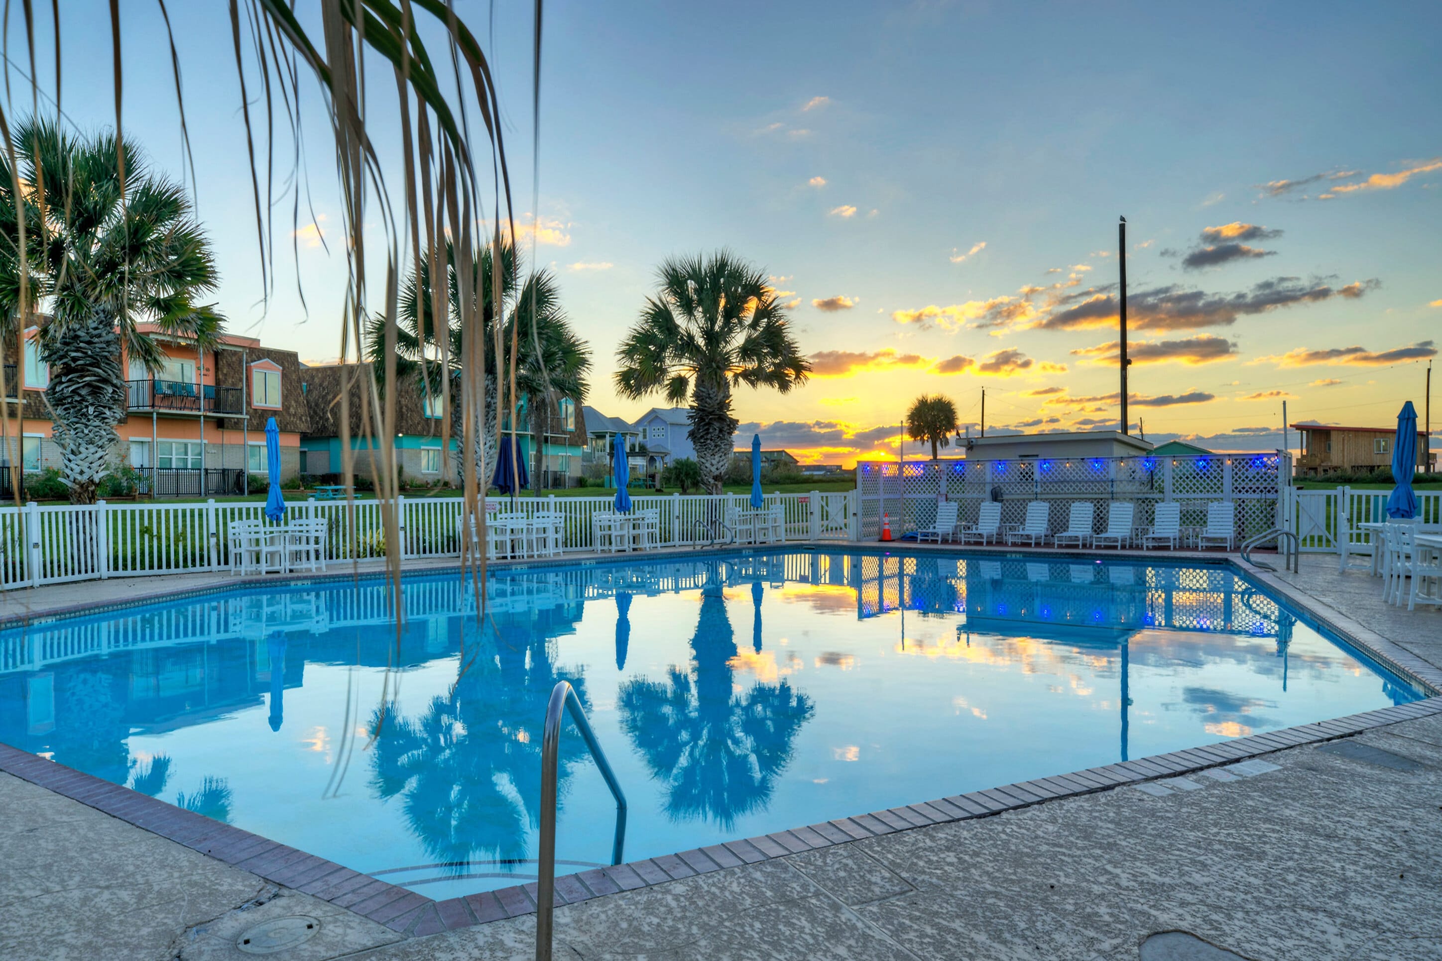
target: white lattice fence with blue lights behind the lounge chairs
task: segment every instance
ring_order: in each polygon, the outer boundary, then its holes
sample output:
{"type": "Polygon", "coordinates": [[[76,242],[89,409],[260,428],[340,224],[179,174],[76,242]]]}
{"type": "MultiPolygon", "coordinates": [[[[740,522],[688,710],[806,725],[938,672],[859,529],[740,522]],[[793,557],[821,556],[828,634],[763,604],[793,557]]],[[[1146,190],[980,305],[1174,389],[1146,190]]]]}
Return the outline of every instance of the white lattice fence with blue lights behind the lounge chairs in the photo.
{"type": "Polygon", "coordinates": [[[1291,458],[1276,454],[1211,454],[1204,457],[1074,457],[1011,461],[883,461],[857,464],[861,539],[880,536],[890,519],[893,536],[924,529],[940,500],[960,501],[960,523],[976,522],[982,501],[1002,506],[1002,524],[1021,524],[1027,503],[1051,504],[1048,533],[1067,529],[1071,504],[1093,501],[1093,529],[1106,530],[1106,504],[1136,504],[1136,526],[1152,523],[1156,504],[1181,504],[1181,523],[1203,527],[1207,504],[1236,504],[1237,537],[1246,539],[1279,522],[1282,477],[1291,458]]]}

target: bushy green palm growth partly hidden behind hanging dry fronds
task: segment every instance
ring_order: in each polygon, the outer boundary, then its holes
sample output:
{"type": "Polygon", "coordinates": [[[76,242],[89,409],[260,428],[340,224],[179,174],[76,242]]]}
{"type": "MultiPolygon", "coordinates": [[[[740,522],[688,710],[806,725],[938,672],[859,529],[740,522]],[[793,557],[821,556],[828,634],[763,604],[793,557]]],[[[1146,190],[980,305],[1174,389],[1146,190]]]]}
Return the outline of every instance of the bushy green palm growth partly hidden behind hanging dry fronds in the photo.
{"type": "MultiPolygon", "coordinates": [[[[571,330],[565,311],[561,310],[561,295],[551,271],[539,271],[526,277],[521,282],[521,261],[510,243],[502,241],[499,265],[495,264],[492,246],[485,246],[474,258],[474,275],[470,288],[476,291],[477,316],[482,328],[477,333],[485,343],[485,373],[486,373],[486,411],[495,412],[502,389],[506,389],[510,377],[509,347],[512,336],[516,339],[516,395],[518,402],[525,399],[526,409],[532,412],[531,428],[535,437],[535,448],[542,450],[542,438],[548,414],[561,398],[584,399],[590,385],[585,375],[591,369],[591,350],[571,330]],[[500,304],[496,304],[496,290],[492,282],[492,269],[497,268],[500,278],[500,304]],[[496,324],[500,324],[500,341],[503,354],[497,357],[495,347],[496,324]],[[545,412],[536,415],[536,412],[545,412]]],[[[421,390],[428,396],[441,395],[441,373],[450,376],[450,416],[451,429],[460,437],[461,414],[460,405],[460,376],[461,376],[461,303],[460,277],[456,274],[456,251],[447,242],[444,252],[446,264],[446,301],[447,318],[441,330],[434,318],[434,301],[431,291],[430,256],[421,258],[421,269],[405,278],[401,288],[399,317],[395,337],[395,373],[398,377],[414,377],[421,390]],[[446,363],[441,363],[441,339],[446,340],[446,363]]],[[[366,357],[375,376],[385,377],[385,318],[372,317],[366,330],[366,357]]],[[[515,422],[518,412],[508,412],[508,419],[515,422]]],[[[476,435],[472,444],[476,447],[477,464],[496,462],[496,421],[493,414],[480,418],[474,425],[476,435]]],[[[490,478],[482,478],[482,487],[490,478]]]]}

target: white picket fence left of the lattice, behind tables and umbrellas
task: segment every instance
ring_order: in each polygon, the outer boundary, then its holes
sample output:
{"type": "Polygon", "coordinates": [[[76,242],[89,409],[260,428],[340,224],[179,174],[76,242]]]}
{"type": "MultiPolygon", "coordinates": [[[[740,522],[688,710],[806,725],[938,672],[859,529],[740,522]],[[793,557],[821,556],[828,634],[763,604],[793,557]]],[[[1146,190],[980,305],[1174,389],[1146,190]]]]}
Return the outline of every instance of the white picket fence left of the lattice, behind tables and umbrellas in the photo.
{"type": "MultiPolygon", "coordinates": [[[[748,506],[746,494],[632,497],[633,510],[660,513],[660,546],[712,543],[704,524],[748,506]]],[[[787,540],[855,539],[855,491],[766,494],[780,506],[787,540]]],[[[397,499],[401,556],[459,558],[460,497],[397,499]]],[[[489,507],[559,513],[565,552],[593,547],[591,514],[614,510],[611,497],[489,499],[489,507]]],[[[287,517],[323,517],[327,560],[385,556],[382,501],[290,501],[287,517]]],[[[231,565],[226,532],[234,520],[262,520],[261,503],[108,504],[0,509],[0,589],[117,576],[196,573],[231,565]]]]}

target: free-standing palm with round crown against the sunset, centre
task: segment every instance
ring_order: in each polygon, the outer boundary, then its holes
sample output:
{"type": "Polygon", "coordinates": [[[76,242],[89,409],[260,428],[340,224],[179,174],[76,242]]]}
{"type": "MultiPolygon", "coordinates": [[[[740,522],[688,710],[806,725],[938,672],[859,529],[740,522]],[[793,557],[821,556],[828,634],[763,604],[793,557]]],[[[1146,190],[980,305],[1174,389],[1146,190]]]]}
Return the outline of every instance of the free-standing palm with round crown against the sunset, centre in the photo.
{"type": "Polygon", "coordinates": [[[720,494],[737,426],[733,388],[786,393],[806,382],[810,363],[766,271],[720,251],[668,259],[658,274],[660,288],[646,298],[640,320],[616,352],[616,388],[632,401],[658,390],[672,403],[691,399],[688,437],[701,486],[720,494]]]}

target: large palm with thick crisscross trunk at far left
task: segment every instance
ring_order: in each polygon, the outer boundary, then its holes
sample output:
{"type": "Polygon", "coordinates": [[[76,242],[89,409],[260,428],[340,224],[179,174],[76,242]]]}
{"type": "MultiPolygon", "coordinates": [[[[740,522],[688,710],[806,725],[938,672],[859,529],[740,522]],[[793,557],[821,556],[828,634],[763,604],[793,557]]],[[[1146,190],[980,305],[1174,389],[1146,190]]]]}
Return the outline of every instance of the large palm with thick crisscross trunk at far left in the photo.
{"type": "Polygon", "coordinates": [[[81,138],[53,121],[30,120],[14,131],[14,154],[19,196],[9,160],[0,157],[0,311],[14,330],[16,212],[23,209],[30,304],[49,307],[39,350],[50,367],[45,401],[65,458],[61,477],[71,503],[91,504],[125,416],[121,352],[160,370],[164,354],[140,330],[146,321],[212,346],[221,317],[195,301],[219,277],[185,189],[151,174],[134,143],[108,133],[81,138]]]}

